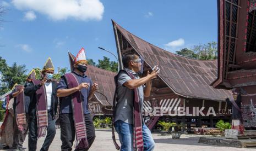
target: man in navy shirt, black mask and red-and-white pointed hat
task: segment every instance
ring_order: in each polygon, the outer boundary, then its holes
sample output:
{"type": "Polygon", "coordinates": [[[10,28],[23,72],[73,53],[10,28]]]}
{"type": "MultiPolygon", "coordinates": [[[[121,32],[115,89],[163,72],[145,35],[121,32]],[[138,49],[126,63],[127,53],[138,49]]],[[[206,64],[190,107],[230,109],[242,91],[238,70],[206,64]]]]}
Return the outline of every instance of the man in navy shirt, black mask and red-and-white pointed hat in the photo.
{"type": "Polygon", "coordinates": [[[95,130],[88,101],[98,89],[96,83],[85,74],[88,62],[84,48],[76,57],[69,53],[72,73],[62,76],[57,87],[60,100],[60,125],[62,150],[72,150],[74,137],[75,150],[88,150],[95,139],[95,130]]]}

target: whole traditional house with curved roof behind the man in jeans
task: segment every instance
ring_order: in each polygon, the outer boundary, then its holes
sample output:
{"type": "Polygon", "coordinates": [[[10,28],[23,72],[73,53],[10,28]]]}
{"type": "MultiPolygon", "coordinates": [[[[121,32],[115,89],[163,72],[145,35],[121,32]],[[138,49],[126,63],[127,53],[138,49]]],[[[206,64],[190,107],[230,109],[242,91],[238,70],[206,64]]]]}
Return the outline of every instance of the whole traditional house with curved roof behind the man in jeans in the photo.
{"type": "MultiPolygon", "coordinates": [[[[143,60],[143,74],[159,65],[159,76],[152,80],[151,96],[144,100],[144,111],[154,111],[154,107],[161,107],[174,112],[175,108],[188,107],[189,114],[170,116],[163,113],[155,114],[148,122],[150,129],[157,120],[168,120],[186,123],[188,127],[206,125],[214,127],[219,119],[230,119],[225,98],[231,97],[228,90],[214,89],[209,84],[217,77],[217,60],[201,61],[188,59],[152,45],[145,40],[128,32],[116,22],[112,21],[115,32],[117,54],[122,65],[122,56],[126,53],[136,53],[143,60]],[[193,107],[205,107],[206,114],[209,108],[214,108],[216,116],[200,116],[193,114],[193,107]],[[226,109],[226,112],[222,112],[226,109]],[[219,112],[220,111],[220,112],[219,112]]],[[[186,109],[186,112],[188,109],[186,109]]]]}

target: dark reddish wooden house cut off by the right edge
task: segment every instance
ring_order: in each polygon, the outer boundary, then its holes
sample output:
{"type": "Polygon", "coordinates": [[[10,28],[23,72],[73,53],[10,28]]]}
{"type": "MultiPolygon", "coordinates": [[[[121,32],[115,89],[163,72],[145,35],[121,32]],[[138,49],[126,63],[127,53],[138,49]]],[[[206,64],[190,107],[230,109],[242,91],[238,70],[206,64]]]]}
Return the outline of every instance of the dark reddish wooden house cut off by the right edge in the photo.
{"type": "Polygon", "coordinates": [[[218,73],[214,88],[242,94],[243,126],[256,127],[256,1],[218,0],[218,73]]]}

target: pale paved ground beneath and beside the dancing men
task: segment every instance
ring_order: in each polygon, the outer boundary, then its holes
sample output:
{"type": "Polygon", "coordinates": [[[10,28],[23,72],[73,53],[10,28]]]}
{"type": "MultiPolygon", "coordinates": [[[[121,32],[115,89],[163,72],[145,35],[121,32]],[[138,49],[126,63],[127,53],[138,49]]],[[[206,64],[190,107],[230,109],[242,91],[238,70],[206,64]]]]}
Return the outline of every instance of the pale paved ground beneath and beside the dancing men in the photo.
{"type": "MultiPolygon", "coordinates": [[[[182,151],[192,151],[192,150],[214,150],[214,151],[227,151],[227,150],[256,150],[256,148],[232,148],[232,147],[219,147],[219,146],[211,146],[208,144],[199,144],[198,140],[200,136],[196,135],[182,135],[181,139],[179,140],[173,140],[171,136],[161,136],[160,133],[153,133],[152,134],[155,140],[155,150],[156,151],[171,151],[171,150],[182,150],[182,151]]],[[[40,138],[40,140],[37,143],[37,147],[40,149],[43,143],[43,138],[40,138]]],[[[26,141],[24,142],[24,148],[26,150],[28,147],[28,137],[26,138],[26,141]]],[[[50,151],[57,151],[60,150],[61,147],[61,140],[60,140],[60,131],[57,130],[55,140],[52,142],[50,146],[50,151]]],[[[37,150],[39,150],[37,149],[37,150]]],[[[1,149],[0,149],[1,150],[1,149]]],[[[111,151],[116,150],[115,146],[112,142],[112,132],[109,129],[97,129],[96,130],[96,139],[94,141],[94,144],[92,144],[92,147],[90,150],[99,150],[99,151],[111,151]]]]}

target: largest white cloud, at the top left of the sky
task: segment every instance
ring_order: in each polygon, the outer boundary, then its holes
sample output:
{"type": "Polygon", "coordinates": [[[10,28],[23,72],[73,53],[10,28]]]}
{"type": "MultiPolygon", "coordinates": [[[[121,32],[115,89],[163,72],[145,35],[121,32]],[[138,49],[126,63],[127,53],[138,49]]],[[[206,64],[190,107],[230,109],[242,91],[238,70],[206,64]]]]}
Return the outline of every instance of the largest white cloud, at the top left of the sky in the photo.
{"type": "Polygon", "coordinates": [[[100,0],[12,0],[19,10],[32,10],[52,20],[101,20],[104,5],[100,0]]]}

